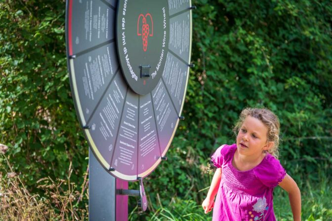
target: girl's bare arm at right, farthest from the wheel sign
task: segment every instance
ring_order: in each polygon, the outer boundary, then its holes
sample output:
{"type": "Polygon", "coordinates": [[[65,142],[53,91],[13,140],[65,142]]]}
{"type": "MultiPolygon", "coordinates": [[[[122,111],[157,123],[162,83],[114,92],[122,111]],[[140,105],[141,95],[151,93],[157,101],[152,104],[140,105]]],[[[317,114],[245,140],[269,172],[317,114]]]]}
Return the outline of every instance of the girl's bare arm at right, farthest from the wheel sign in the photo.
{"type": "Polygon", "coordinates": [[[279,186],[288,192],[294,221],[301,221],[301,192],[295,181],[286,174],[279,186]]]}

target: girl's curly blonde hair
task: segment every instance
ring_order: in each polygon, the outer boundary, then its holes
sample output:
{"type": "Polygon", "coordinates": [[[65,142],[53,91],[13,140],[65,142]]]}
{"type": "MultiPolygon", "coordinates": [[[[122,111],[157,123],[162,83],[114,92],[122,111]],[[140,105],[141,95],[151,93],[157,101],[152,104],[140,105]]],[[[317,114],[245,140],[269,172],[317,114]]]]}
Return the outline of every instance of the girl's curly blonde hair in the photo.
{"type": "Polygon", "coordinates": [[[267,152],[278,159],[280,123],[277,115],[265,108],[245,108],[241,111],[239,120],[233,128],[233,131],[236,135],[238,134],[243,122],[248,115],[260,120],[267,127],[267,142],[274,142],[273,147],[268,149],[267,152]]]}

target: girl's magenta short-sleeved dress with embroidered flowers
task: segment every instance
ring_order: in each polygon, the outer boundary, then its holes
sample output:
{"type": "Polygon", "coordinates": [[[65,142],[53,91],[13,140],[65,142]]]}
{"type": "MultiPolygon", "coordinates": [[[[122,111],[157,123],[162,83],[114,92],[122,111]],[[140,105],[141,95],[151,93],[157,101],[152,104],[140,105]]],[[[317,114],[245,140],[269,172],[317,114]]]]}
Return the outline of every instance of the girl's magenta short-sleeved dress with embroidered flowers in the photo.
{"type": "Polygon", "coordinates": [[[236,144],[219,147],[211,156],[222,168],[212,221],[275,221],[273,189],[285,177],[279,160],[267,153],[260,164],[248,171],[232,165],[236,144]]]}

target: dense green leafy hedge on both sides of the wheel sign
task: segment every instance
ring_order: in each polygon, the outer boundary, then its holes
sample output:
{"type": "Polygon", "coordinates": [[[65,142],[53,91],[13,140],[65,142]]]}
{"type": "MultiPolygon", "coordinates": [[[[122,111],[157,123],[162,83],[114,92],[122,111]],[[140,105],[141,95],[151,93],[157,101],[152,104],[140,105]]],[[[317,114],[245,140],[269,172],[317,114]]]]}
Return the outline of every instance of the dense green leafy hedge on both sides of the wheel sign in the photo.
{"type": "MultiPolygon", "coordinates": [[[[331,176],[332,2],[193,0],[193,54],[186,103],[163,162],[146,179],[172,197],[206,194],[209,156],[232,143],[247,106],[280,118],[282,164],[298,183],[331,176]]],[[[0,3],[0,143],[30,188],[50,176],[83,183],[88,147],[72,102],[65,55],[65,1],[0,3]]],[[[1,162],[0,162],[1,163],[1,162]]],[[[136,184],[131,184],[136,185],[136,184]]]]}

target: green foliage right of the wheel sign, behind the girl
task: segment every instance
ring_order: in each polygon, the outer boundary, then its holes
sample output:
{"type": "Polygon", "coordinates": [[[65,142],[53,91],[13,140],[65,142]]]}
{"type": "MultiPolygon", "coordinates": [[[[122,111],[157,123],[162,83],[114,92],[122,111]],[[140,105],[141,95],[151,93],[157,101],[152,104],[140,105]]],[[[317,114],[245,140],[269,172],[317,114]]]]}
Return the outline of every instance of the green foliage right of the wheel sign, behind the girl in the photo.
{"type": "Polygon", "coordinates": [[[297,182],[317,181],[319,166],[332,162],[331,1],[193,4],[198,7],[193,11],[196,66],[186,120],[168,162],[150,176],[151,189],[164,199],[176,195],[202,202],[207,190],[200,190],[211,180],[209,156],[234,143],[232,126],[247,106],[267,107],[279,116],[281,163],[297,182]]]}

